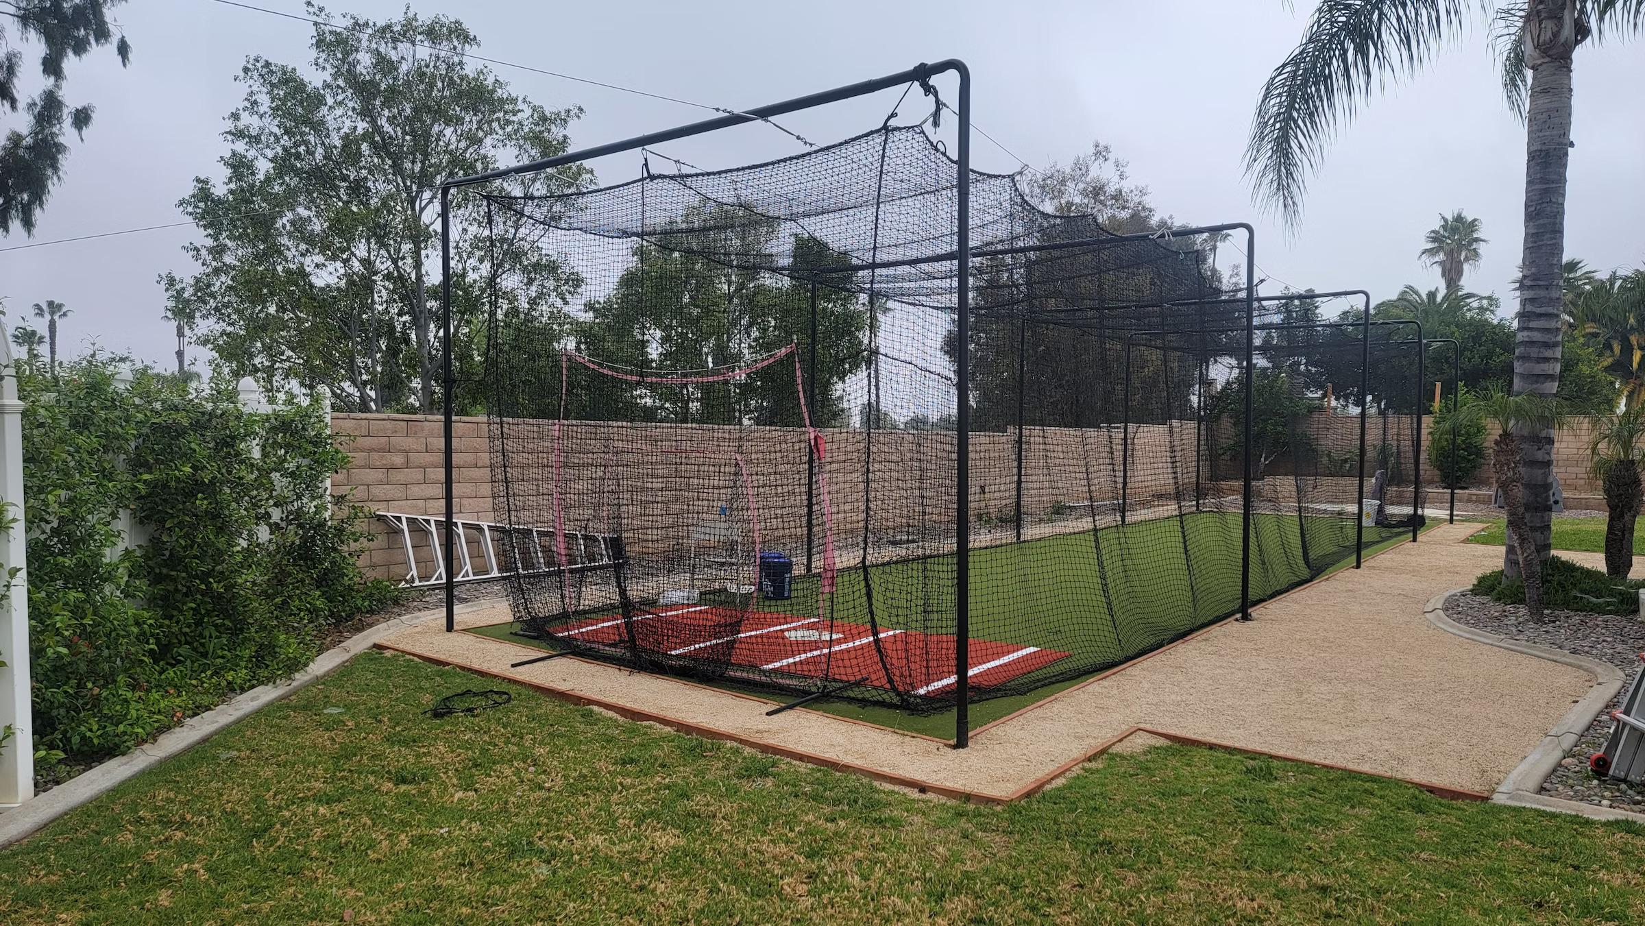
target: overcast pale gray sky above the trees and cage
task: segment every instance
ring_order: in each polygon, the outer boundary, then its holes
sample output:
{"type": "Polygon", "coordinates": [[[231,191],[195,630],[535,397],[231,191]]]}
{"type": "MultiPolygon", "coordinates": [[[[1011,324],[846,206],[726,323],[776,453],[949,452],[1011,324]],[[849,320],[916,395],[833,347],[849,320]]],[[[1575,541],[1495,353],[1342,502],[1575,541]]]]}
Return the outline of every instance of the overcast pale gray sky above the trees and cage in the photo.
{"type": "MultiPolygon", "coordinates": [[[[253,0],[301,13],[294,0],[253,0]]],[[[1258,214],[1240,173],[1252,107],[1268,71],[1296,43],[1311,3],[1179,0],[1137,3],[836,2],[788,8],[748,3],[528,3],[415,0],[419,13],[459,15],[482,54],[727,107],[753,107],[837,84],[962,58],[974,84],[972,118],[1030,164],[1066,161],[1092,138],[1130,161],[1132,179],[1161,212],[1184,222],[1252,220],[1258,276],[1314,288],[1438,286],[1421,266],[1421,235],[1441,211],[1484,220],[1485,260],[1467,286],[1497,293],[1512,311],[1520,253],[1525,132],[1500,102],[1485,26],[1405,86],[1374,100],[1347,127],[1314,179],[1295,235],[1258,214]]],[[[398,15],[396,0],[339,0],[337,12],[398,15]]],[[[97,118],[74,146],[36,242],[181,220],[176,201],[197,174],[219,176],[219,132],[240,100],[234,77],[248,54],[304,64],[311,26],[211,0],[135,0],[117,12],[132,66],[99,49],[72,63],[67,92],[97,118]]],[[[693,122],[702,110],[517,69],[498,72],[548,107],[581,104],[574,145],[693,122]]],[[[1609,270],[1645,263],[1645,43],[1587,46],[1576,66],[1576,150],[1566,255],[1609,270]]],[[[813,141],[878,125],[895,102],[872,97],[781,122],[813,141]]],[[[915,105],[906,107],[915,112],[915,105]]],[[[908,115],[905,112],[905,115],[908,115]]],[[[768,127],[676,141],[665,151],[702,168],[798,151],[768,127]]],[[[977,138],[975,166],[1017,161],[977,138]]],[[[637,155],[595,161],[605,183],[632,179],[637,155]]],[[[74,316],[71,354],[95,339],[140,359],[169,362],[155,276],[184,273],[168,229],[0,253],[8,324],[31,303],[61,299],[74,316]]],[[[26,243],[13,232],[0,245],[26,243]]],[[[1224,252],[1227,253],[1227,252],[1224,252]]],[[[1237,255],[1230,255],[1237,258],[1237,255]]],[[[1265,286],[1278,291],[1278,285],[1265,286]]]]}

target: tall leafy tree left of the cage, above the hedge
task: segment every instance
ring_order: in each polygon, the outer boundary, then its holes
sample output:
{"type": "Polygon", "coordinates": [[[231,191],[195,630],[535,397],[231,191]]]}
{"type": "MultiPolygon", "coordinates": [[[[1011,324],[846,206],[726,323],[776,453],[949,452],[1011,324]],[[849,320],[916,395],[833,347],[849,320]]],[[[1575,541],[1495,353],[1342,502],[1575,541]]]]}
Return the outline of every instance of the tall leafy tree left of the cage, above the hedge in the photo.
{"type": "MultiPolygon", "coordinates": [[[[347,410],[410,400],[428,411],[441,380],[441,181],[564,151],[581,110],[546,110],[470,64],[462,54],[479,39],[457,20],[406,12],[373,23],[309,10],[334,28],[314,28],[308,69],[253,56],[240,72],[247,94],[229,113],[224,178],[196,178],[179,202],[204,238],[184,248],[201,271],[166,280],[169,304],[211,324],[201,342],[234,375],[326,388],[347,410]]],[[[553,192],[586,179],[569,168],[507,189],[553,192]]],[[[497,235],[480,235],[482,202],[459,192],[452,207],[459,345],[482,344],[469,278],[507,275],[507,313],[564,306],[579,288],[510,234],[508,217],[490,225],[497,235]],[[482,265],[489,248],[495,268],[482,265]]]]}

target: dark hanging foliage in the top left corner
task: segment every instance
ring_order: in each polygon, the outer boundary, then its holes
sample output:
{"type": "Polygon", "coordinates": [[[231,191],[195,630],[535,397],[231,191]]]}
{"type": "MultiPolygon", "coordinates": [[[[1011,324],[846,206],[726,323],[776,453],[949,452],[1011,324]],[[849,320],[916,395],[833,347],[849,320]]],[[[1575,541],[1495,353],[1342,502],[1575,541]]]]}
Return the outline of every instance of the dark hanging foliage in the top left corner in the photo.
{"type": "Polygon", "coordinates": [[[0,234],[12,225],[35,234],[35,219],[53,188],[63,181],[69,158],[64,130],[86,138],[92,125],[92,104],[71,105],[63,95],[69,59],[86,58],[94,48],[114,43],[120,64],[130,64],[132,43],[109,20],[123,0],[7,0],[0,5],[0,112],[23,113],[18,125],[5,127],[0,141],[0,234]],[[10,20],[10,31],[7,28],[10,20]],[[39,48],[44,86],[23,102],[23,49],[39,48]]]}

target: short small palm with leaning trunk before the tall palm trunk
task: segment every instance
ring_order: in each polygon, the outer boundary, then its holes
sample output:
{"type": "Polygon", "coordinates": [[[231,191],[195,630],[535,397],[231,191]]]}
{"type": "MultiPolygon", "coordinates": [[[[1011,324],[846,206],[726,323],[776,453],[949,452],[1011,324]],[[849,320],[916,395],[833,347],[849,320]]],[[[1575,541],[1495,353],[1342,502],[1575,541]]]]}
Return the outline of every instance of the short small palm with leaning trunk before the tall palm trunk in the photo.
{"type": "MultiPolygon", "coordinates": [[[[1502,493],[1508,521],[1508,549],[1518,559],[1518,577],[1525,582],[1525,612],[1531,620],[1543,615],[1541,561],[1531,536],[1525,503],[1525,433],[1553,433],[1564,423],[1558,400],[1541,393],[1508,395],[1490,391],[1457,410],[1457,424],[1494,423],[1497,439],[1490,444],[1490,472],[1502,493]]],[[[1507,574],[1507,569],[1504,569],[1507,574]]]]}

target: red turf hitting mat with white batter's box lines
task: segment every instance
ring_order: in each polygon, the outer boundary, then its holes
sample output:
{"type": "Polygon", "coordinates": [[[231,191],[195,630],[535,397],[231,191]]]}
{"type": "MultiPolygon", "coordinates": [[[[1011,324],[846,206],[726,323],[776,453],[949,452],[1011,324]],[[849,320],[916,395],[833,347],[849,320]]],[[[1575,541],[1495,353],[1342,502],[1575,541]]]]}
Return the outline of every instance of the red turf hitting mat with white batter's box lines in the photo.
{"type": "MultiPolygon", "coordinates": [[[[954,637],[946,633],[882,627],[880,646],[873,646],[870,630],[859,623],[770,612],[740,617],[732,609],[712,605],[646,612],[635,617],[632,630],[642,648],[658,650],[651,640],[668,640],[666,653],[671,656],[725,658],[729,653],[734,666],[768,673],[841,681],[867,678],[864,684],[933,697],[951,691],[956,681],[954,637]]],[[[556,628],[554,635],[581,643],[622,645],[628,632],[620,615],[602,615],[556,628]]],[[[974,638],[971,684],[1005,684],[1066,656],[1058,650],[974,638]]]]}

